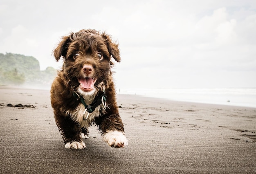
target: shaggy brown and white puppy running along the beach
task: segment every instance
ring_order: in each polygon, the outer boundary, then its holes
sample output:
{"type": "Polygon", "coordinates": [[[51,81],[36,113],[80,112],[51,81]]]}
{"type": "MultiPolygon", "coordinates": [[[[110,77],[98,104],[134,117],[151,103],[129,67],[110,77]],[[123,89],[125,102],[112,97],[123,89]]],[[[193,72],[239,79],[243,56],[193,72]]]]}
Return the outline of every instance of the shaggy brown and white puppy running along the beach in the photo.
{"type": "Polygon", "coordinates": [[[62,37],[52,52],[62,69],[51,87],[51,104],[65,148],[83,149],[88,127],[97,125],[108,145],[128,145],[111,68],[121,61],[118,44],[105,32],[83,29],[62,37]]]}

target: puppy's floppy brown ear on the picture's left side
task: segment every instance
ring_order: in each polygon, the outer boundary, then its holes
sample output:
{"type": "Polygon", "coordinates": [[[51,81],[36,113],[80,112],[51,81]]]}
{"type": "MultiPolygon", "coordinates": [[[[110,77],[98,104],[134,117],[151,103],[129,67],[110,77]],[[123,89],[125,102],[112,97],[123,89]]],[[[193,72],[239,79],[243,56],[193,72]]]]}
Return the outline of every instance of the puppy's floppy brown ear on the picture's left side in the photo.
{"type": "Polygon", "coordinates": [[[52,54],[54,55],[57,62],[61,58],[61,56],[63,56],[64,59],[67,58],[66,57],[67,56],[67,48],[68,48],[69,43],[72,42],[73,35],[74,35],[74,33],[70,33],[69,36],[62,37],[62,41],[58,44],[58,46],[52,52],[52,54]]]}

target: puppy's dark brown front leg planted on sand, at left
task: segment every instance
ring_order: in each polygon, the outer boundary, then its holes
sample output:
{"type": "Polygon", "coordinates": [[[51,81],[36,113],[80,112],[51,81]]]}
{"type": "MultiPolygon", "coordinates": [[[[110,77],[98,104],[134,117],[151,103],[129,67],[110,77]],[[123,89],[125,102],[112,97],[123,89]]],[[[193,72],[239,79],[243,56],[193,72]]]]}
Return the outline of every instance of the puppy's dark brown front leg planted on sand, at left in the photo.
{"type": "Polygon", "coordinates": [[[63,137],[65,148],[67,149],[83,149],[85,143],[81,139],[81,128],[69,117],[55,116],[56,125],[63,137]]]}

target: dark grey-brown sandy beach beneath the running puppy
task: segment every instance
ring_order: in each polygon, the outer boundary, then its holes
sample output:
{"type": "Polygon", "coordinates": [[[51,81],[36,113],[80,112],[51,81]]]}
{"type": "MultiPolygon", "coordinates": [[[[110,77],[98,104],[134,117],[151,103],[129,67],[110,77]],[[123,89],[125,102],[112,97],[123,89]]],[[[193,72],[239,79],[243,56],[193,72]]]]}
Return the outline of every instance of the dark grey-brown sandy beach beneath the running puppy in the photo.
{"type": "Polygon", "coordinates": [[[256,173],[256,108],[117,95],[129,145],[64,148],[49,90],[0,87],[0,173],[256,173]]]}

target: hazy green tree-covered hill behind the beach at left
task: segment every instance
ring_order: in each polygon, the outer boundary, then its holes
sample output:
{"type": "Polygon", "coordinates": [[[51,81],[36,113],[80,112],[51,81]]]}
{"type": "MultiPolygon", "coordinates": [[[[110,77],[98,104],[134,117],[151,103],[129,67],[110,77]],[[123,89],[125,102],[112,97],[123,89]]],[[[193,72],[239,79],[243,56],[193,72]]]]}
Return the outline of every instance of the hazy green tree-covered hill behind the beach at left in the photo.
{"type": "Polygon", "coordinates": [[[51,66],[41,71],[35,57],[0,53],[0,85],[50,86],[55,76],[56,69],[51,66]]]}

